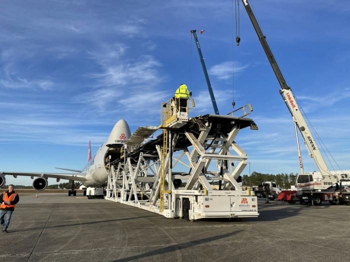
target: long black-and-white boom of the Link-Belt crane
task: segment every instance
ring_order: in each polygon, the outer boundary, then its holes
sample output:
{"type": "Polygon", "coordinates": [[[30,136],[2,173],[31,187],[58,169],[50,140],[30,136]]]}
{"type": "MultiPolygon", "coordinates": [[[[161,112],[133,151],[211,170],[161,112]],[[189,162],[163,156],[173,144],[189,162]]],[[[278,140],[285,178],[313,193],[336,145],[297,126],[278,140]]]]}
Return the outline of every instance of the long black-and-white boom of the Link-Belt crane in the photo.
{"type": "MultiPolygon", "coordinates": [[[[259,38],[259,41],[261,43],[261,46],[268,58],[268,61],[270,62],[270,65],[272,67],[272,70],[274,72],[274,74],[277,77],[278,83],[281,87],[279,93],[281,94],[295,124],[297,125],[303,139],[305,142],[305,146],[306,149],[310,155],[311,158],[314,159],[317,168],[319,169],[319,172],[322,176],[322,179],[326,179],[326,180],[334,180],[334,176],[331,175],[331,173],[328,170],[328,167],[318,149],[318,146],[315,142],[315,140],[313,139],[313,136],[311,134],[311,131],[309,129],[309,127],[307,126],[307,123],[301,113],[301,111],[299,110],[299,106],[295,100],[295,96],[293,95],[291,88],[286,84],[286,81],[283,77],[283,74],[277,64],[276,59],[273,56],[273,53],[267,43],[266,40],[266,36],[262,33],[262,30],[260,28],[260,25],[254,15],[253,10],[251,9],[250,3],[248,0],[242,0],[243,2],[243,6],[250,18],[250,21],[256,31],[256,34],[259,38]]],[[[328,183],[332,183],[332,182],[328,182],[328,183]]],[[[326,183],[324,186],[322,186],[322,188],[324,187],[329,187],[329,184],[326,183]]],[[[323,184],[323,183],[322,183],[323,184]]]]}

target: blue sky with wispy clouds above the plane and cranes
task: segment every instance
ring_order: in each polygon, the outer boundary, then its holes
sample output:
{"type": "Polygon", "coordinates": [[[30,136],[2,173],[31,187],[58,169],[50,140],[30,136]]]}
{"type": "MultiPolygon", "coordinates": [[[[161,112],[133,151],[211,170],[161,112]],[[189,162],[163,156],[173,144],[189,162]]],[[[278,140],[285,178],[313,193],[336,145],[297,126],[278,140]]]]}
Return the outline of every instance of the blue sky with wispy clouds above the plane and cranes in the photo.
{"type": "MultiPolygon", "coordinates": [[[[350,3],[250,2],[300,105],[350,169],[350,3]]],[[[94,153],[118,119],[131,131],[158,125],[160,102],[181,83],[193,93],[192,116],[212,113],[195,28],[205,29],[198,37],[220,113],[232,110],[232,63],[236,108],[253,105],[259,130],[236,139],[251,171],[298,172],[278,82],[243,8],[235,46],[231,12],[230,0],[1,1],[0,171],[81,168],[88,141],[94,153]]],[[[302,150],[305,171],[315,170],[302,150]]]]}

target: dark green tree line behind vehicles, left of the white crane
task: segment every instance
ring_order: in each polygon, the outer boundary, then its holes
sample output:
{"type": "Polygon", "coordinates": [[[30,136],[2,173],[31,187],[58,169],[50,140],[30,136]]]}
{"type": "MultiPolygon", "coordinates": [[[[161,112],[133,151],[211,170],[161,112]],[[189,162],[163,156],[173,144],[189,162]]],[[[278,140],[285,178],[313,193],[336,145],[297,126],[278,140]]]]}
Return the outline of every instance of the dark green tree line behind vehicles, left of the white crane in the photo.
{"type": "Polygon", "coordinates": [[[276,184],[280,188],[290,188],[290,186],[293,186],[295,184],[297,174],[287,174],[287,173],[281,173],[281,174],[263,174],[258,172],[252,172],[250,176],[243,175],[242,176],[242,185],[243,186],[258,186],[262,184],[264,181],[272,181],[276,182],[276,184]]]}

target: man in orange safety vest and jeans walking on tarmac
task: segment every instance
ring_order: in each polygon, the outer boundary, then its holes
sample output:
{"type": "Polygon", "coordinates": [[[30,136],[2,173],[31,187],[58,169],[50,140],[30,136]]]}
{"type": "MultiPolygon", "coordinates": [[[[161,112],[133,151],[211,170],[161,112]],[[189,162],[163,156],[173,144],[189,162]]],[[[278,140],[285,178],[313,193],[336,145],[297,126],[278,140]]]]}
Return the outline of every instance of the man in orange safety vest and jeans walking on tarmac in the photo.
{"type": "Polygon", "coordinates": [[[8,185],[8,190],[0,196],[0,223],[3,233],[8,233],[7,228],[11,220],[12,213],[19,201],[18,193],[14,192],[14,186],[8,185]]]}

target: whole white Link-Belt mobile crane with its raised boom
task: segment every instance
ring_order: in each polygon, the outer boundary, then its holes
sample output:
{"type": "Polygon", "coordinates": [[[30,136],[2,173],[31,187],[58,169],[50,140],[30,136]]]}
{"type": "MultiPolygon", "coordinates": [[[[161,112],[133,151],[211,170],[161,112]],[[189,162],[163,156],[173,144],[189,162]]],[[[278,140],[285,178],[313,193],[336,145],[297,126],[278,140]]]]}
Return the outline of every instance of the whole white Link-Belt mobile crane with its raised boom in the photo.
{"type": "MultiPolygon", "coordinates": [[[[297,176],[295,186],[301,189],[301,192],[296,194],[295,191],[285,193],[283,199],[287,201],[300,201],[300,204],[311,203],[320,204],[322,201],[328,201],[330,203],[349,203],[350,191],[341,184],[350,181],[350,171],[330,171],[322,157],[320,150],[314,140],[307,123],[299,110],[299,106],[293,95],[291,88],[287,85],[284,76],[275,60],[273,53],[267,43],[265,35],[257,22],[257,19],[251,9],[248,0],[242,0],[243,6],[251,20],[251,23],[256,31],[261,46],[268,58],[268,61],[273,69],[274,74],[277,77],[278,83],[281,87],[279,90],[280,95],[285,102],[294,123],[300,131],[308,154],[316,163],[319,172],[301,173],[297,176]]],[[[298,143],[297,143],[298,144],[298,143]]],[[[301,155],[299,152],[299,164],[300,170],[302,169],[301,155]]],[[[282,197],[281,197],[282,198],[282,197]]]]}

